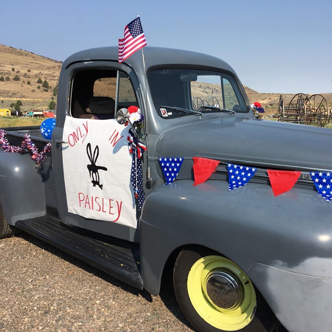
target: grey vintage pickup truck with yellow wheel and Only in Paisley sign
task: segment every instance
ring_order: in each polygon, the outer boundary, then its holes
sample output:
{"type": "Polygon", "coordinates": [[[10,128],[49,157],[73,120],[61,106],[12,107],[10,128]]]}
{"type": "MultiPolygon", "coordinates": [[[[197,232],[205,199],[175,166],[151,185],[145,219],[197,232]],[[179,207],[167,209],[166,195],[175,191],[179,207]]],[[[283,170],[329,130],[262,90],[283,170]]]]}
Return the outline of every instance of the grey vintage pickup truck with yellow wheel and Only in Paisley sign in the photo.
{"type": "Polygon", "coordinates": [[[4,128],[10,144],[30,134],[51,151],[36,166],[0,149],[0,238],[22,229],[153,295],[171,267],[200,332],[271,332],[279,322],[331,331],[332,206],[310,178],[332,169],[330,129],[255,119],[234,70],[209,55],[145,47],[145,63],[140,51],[117,59],[117,47],[102,47],[64,61],[50,140],[39,127],[4,128]],[[195,107],[212,93],[217,105],[195,107]],[[130,106],[144,116],[133,130],[147,148],[135,168],[130,106]],[[193,157],[219,161],[197,186],[193,157]],[[167,185],[160,158],[183,160],[167,185]],[[228,163],[257,171],[228,191],[228,163]],[[267,169],[301,174],[274,197],[267,169]],[[130,170],[142,177],[138,199],[130,170]]]}

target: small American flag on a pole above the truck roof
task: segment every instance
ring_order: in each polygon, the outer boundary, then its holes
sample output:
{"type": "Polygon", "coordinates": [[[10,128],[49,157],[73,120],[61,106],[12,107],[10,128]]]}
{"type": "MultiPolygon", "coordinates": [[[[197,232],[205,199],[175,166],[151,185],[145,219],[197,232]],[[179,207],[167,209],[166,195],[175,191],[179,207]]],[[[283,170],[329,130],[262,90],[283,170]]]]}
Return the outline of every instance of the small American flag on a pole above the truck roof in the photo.
{"type": "Polygon", "coordinates": [[[139,17],[124,28],[124,38],[119,39],[119,62],[146,46],[146,40],[139,17]]]}

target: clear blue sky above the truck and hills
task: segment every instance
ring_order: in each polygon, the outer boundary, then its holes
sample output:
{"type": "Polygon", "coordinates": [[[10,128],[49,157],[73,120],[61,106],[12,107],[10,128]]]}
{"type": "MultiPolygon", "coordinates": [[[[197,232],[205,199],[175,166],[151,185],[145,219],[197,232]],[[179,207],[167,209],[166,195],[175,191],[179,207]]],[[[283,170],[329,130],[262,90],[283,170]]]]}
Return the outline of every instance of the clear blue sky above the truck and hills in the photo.
{"type": "Polygon", "coordinates": [[[217,56],[256,91],[332,92],[331,0],[0,0],[0,8],[0,43],[53,59],[117,45],[139,14],[148,45],[217,56]]]}

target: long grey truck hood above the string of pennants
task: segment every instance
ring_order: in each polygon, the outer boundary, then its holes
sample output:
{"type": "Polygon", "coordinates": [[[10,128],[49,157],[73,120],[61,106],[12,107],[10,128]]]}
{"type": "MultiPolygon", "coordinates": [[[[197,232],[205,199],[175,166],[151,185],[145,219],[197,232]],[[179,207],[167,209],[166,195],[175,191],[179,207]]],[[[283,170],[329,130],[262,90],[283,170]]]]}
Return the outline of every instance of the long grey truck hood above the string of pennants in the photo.
{"type": "Polygon", "coordinates": [[[243,117],[203,118],[164,132],[155,156],[331,170],[331,143],[332,130],[327,128],[243,117]]]}

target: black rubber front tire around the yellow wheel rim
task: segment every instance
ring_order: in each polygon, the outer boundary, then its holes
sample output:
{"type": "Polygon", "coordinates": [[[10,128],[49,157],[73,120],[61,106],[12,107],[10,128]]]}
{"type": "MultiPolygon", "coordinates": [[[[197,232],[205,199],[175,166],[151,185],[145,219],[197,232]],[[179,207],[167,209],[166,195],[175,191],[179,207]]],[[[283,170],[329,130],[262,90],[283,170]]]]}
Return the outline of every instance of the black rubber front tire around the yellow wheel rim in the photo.
{"type": "MultiPolygon", "coordinates": [[[[190,246],[184,248],[174,266],[173,272],[173,284],[174,291],[178,303],[189,320],[189,322],[199,331],[199,332],[224,332],[225,330],[221,330],[210,325],[207,321],[205,321],[200,314],[194,308],[188,293],[187,281],[190,270],[193,265],[203,257],[218,255],[215,251],[200,247],[200,246],[190,246]]],[[[222,256],[221,256],[222,257],[222,256]]],[[[255,289],[256,292],[256,300],[257,307],[256,311],[254,311],[254,318],[250,321],[250,323],[240,329],[235,329],[233,331],[240,332],[273,332],[278,330],[278,326],[280,323],[276,319],[275,315],[271,311],[268,304],[265,302],[264,298],[261,296],[259,291],[255,289]]],[[[227,330],[229,331],[229,330],[227,330]]]]}

